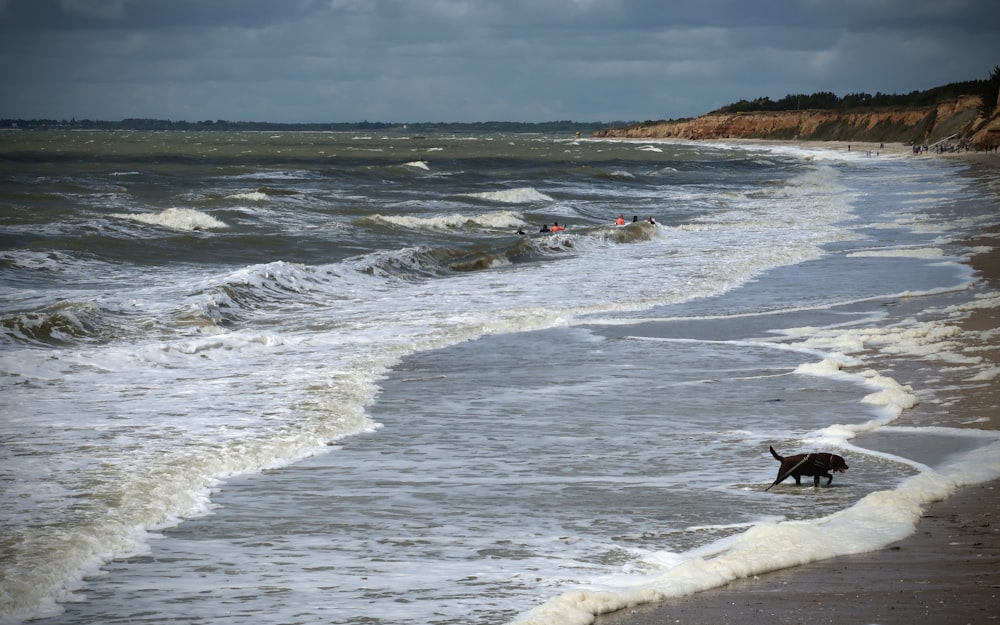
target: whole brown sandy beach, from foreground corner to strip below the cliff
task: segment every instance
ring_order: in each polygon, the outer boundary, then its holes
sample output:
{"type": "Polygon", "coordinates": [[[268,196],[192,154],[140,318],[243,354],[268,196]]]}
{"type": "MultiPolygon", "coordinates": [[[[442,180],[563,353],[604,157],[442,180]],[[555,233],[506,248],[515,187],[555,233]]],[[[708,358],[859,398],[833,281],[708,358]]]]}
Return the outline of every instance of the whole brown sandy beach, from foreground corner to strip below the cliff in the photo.
{"type": "MultiPolygon", "coordinates": [[[[802,145],[798,143],[798,145],[802,145]]],[[[816,147],[846,150],[847,144],[816,147]]],[[[852,144],[872,156],[912,153],[908,146],[852,144]]],[[[940,158],[935,154],[914,158],[940,158]]],[[[943,155],[995,175],[996,153],[943,155]]],[[[987,249],[971,264],[991,288],[1000,287],[1000,227],[969,246],[987,249]]],[[[977,310],[962,322],[966,346],[998,362],[1000,348],[985,331],[1000,328],[1000,311],[977,310]]],[[[956,423],[1000,429],[994,384],[960,386],[949,398],[956,423]]],[[[961,489],[924,511],[915,532],[887,548],[737,580],[660,604],[621,610],[598,625],[736,625],[739,623],[857,623],[958,625],[1000,622],[1000,481],[961,489]]]]}

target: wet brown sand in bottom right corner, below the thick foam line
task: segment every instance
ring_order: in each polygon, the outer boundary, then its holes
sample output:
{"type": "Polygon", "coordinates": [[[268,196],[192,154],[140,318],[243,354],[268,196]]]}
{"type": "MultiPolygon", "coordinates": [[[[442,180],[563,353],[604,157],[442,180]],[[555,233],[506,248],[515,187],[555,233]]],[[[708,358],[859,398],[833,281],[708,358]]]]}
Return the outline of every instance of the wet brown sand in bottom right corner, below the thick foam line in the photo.
{"type": "Polygon", "coordinates": [[[996,623],[1000,480],[961,489],[924,511],[911,536],[662,603],[620,610],[597,625],[996,623]]]}

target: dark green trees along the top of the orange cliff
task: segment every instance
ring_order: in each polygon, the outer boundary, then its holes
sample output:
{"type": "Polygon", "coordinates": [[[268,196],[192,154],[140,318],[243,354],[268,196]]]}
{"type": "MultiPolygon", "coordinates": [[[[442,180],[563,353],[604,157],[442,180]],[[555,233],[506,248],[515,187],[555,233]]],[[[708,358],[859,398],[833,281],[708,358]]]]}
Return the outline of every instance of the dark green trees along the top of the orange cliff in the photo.
{"type": "MultiPolygon", "coordinates": [[[[1000,67],[994,70],[993,102],[996,104],[996,86],[1000,85],[1000,67]]],[[[885,108],[913,108],[919,106],[933,106],[941,102],[954,100],[963,95],[979,95],[985,93],[988,80],[966,80],[964,82],[954,82],[941,87],[927,89],[926,91],[911,91],[910,93],[890,94],[877,92],[875,95],[869,93],[849,93],[844,97],[838,97],[829,91],[820,91],[812,94],[791,94],[780,100],[771,100],[763,97],[755,100],[740,100],[733,104],[727,104],[715,113],[748,113],[752,111],[798,111],[806,109],[823,109],[835,111],[857,111],[859,109],[885,109],[885,108]]]]}

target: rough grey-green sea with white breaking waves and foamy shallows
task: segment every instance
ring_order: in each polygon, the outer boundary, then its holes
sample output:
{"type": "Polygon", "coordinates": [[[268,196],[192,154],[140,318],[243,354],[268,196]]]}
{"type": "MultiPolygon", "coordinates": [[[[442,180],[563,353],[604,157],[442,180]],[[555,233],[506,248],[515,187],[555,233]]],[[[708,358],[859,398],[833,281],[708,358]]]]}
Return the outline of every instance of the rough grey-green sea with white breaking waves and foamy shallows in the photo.
{"type": "Polygon", "coordinates": [[[859,152],[5,133],[0,621],[589,623],[905,537],[1000,476],[1000,184],[859,152]]]}

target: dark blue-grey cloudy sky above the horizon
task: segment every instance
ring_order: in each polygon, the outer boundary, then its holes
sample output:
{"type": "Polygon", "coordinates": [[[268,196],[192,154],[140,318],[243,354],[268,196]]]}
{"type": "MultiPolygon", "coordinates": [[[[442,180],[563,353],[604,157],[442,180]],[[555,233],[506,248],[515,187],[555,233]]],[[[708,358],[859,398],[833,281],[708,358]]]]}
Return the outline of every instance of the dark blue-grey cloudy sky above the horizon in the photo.
{"type": "Polygon", "coordinates": [[[647,120],[998,64],[998,0],[0,0],[0,118],[647,120]]]}

